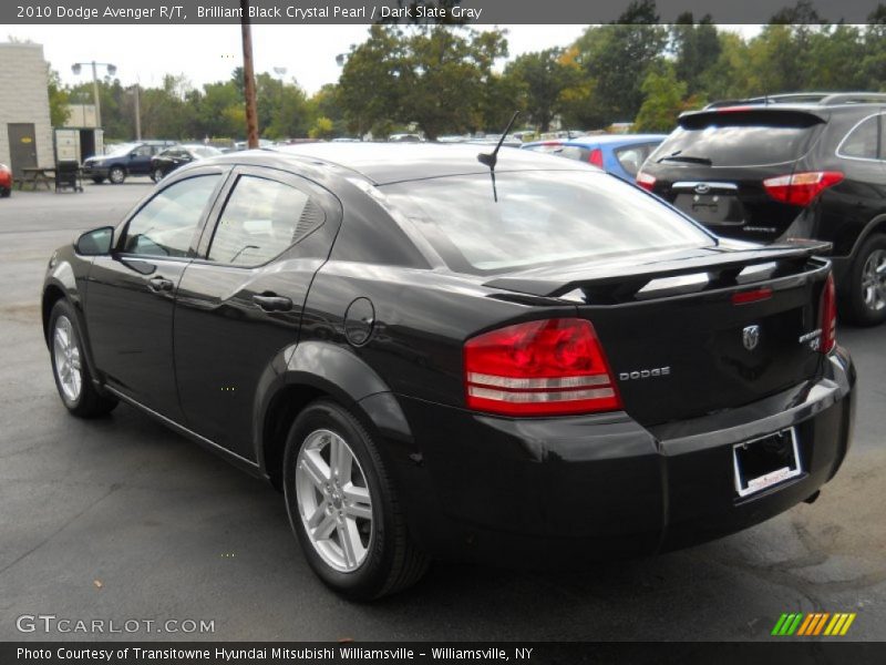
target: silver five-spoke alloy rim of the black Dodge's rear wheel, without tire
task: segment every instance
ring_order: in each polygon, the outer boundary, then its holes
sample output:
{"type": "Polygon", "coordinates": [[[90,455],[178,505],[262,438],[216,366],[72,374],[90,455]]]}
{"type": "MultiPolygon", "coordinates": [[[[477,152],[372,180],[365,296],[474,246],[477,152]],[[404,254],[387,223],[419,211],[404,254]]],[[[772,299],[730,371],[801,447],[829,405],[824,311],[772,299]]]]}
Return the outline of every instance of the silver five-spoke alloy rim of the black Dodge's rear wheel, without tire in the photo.
{"type": "Polygon", "coordinates": [[[356,571],[374,538],[372,499],[353,450],[333,431],[309,433],[296,461],[296,502],[305,532],[330,567],[356,571]]]}

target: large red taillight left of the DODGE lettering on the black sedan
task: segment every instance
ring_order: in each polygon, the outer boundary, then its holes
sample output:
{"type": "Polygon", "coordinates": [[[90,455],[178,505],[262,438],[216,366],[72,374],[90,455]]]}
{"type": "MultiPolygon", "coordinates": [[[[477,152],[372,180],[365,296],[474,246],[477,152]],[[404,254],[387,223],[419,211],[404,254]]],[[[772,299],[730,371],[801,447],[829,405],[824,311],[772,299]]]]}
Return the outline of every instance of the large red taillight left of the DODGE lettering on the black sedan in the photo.
{"type": "Polygon", "coordinates": [[[464,345],[467,408],[505,416],[562,416],[621,408],[589,321],[528,321],[464,345]]]}

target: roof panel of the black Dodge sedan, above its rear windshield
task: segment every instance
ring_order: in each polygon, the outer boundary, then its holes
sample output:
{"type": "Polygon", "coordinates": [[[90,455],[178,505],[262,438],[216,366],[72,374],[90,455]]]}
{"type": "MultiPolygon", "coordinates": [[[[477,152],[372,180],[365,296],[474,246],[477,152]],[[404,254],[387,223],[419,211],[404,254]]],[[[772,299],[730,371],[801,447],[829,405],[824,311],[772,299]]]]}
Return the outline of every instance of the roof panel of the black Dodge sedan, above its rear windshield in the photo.
{"type": "MultiPolygon", "coordinates": [[[[292,157],[308,157],[348,168],[373,184],[488,173],[477,154],[492,152],[492,145],[437,143],[305,143],[275,146],[270,151],[292,157]]],[[[254,151],[255,152],[255,151],[254,151]]],[[[219,157],[216,157],[219,158],[219,157]]],[[[579,171],[588,166],[514,147],[502,147],[495,170],[579,171]]]]}

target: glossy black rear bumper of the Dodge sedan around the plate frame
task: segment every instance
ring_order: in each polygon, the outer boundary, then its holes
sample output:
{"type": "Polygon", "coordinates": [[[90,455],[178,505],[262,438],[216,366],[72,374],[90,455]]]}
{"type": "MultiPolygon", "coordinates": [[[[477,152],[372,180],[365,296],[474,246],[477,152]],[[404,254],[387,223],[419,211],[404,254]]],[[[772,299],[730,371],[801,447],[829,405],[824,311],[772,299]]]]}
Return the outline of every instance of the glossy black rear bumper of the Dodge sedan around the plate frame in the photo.
{"type": "Polygon", "coordinates": [[[817,381],[649,429],[625,413],[513,420],[401,397],[421,450],[398,466],[410,525],[439,557],[570,567],[740,531],[836,473],[852,434],[854,383],[838,349],[817,381]],[[789,427],[797,428],[803,473],[740,499],[733,444],[789,427]]]}

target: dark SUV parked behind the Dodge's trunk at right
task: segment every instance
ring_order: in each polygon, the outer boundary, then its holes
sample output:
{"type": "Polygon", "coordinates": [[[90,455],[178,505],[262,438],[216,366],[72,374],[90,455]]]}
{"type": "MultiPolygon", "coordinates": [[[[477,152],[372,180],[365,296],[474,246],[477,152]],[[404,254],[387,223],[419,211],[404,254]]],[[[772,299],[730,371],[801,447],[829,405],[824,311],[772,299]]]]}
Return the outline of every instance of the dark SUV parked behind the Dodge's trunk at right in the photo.
{"type": "Polygon", "coordinates": [[[637,183],[717,234],[833,244],[843,314],[886,320],[886,94],[806,93],[684,113],[637,183]]]}

